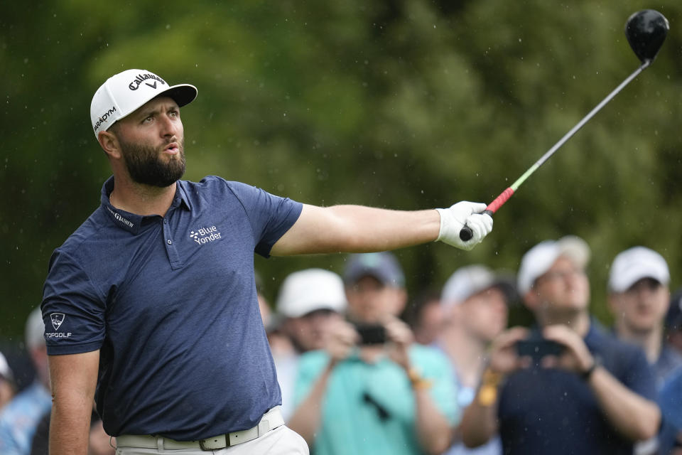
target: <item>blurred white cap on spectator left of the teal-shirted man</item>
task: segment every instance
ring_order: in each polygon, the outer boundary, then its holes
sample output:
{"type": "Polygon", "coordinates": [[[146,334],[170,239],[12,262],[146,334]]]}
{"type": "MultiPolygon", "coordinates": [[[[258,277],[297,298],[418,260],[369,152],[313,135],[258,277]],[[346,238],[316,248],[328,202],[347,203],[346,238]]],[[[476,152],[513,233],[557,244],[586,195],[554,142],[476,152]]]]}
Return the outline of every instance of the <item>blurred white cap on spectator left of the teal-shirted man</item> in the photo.
{"type": "Polygon", "coordinates": [[[290,274],[282,282],[276,302],[277,312],[287,318],[298,318],[322,309],[342,313],[346,305],[343,280],[324,269],[305,269],[290,274]]]}

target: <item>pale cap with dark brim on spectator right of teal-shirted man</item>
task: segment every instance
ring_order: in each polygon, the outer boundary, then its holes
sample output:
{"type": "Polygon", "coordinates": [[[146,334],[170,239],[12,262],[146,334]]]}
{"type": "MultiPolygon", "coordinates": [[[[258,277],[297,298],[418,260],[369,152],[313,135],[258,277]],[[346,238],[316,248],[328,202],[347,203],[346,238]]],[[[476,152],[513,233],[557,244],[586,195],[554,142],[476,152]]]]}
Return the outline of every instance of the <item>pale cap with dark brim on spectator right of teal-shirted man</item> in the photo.
{"type": "Polygon", "coordinates": [[[513,284],[498,277],[491,269],[479,264],[462,267],[445,282],[440,293],[440,304],[445,308],[461,304],[470,296],[492,287],[499,287],[507,302],[514,296],[513,284]]]}

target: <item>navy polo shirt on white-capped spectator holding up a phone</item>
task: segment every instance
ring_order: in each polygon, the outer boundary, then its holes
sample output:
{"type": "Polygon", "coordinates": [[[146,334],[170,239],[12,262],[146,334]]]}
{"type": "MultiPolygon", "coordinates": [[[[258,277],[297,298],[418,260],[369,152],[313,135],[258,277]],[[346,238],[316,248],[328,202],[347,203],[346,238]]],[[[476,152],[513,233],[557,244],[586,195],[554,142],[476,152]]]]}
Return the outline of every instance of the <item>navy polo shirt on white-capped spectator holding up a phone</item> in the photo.
{"type": "MultiPolygon", "coordinates": [[[[590,323],[588,349],[625,387],[656,400],[644,351],[590,323]]],[[[590,386],[575,373],[528,368],[509,376],[498,407],[503,453],[632,455],[633,443],[608,422],[590,386]]]]}

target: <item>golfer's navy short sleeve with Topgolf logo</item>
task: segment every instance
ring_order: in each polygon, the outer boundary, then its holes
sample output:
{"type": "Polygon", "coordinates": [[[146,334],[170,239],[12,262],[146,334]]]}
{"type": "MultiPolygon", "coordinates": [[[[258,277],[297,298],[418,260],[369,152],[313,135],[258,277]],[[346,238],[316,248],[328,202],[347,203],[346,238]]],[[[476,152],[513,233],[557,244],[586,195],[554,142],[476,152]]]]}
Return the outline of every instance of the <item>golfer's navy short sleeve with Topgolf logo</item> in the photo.
{"type": "Polygon", "coordinates": [[[40,307],[49,355],[85,353],[102,347],[104,299],[87,272],[65,252],[57,250],[50,259],[40,307]]]}

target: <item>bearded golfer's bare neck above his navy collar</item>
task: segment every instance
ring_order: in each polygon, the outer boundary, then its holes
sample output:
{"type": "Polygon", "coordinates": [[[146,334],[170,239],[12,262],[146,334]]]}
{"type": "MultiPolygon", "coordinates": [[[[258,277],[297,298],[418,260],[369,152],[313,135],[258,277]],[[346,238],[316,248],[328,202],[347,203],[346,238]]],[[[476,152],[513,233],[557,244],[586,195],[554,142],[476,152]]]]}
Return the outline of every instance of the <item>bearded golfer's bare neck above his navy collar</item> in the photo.
{"type": "Polygon", "coordinates": [[[159,188],[114,178],[114,190],[109,194],[109,202],[116,208],[136,215],[165,216],[175,198],[177,185],[173,183],[159,188]]]}

